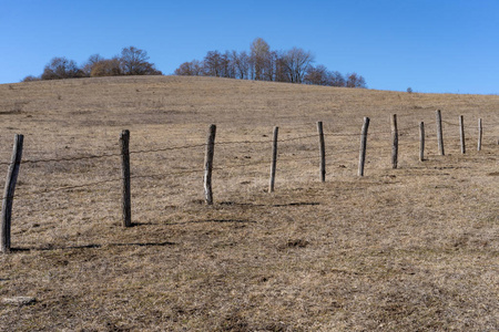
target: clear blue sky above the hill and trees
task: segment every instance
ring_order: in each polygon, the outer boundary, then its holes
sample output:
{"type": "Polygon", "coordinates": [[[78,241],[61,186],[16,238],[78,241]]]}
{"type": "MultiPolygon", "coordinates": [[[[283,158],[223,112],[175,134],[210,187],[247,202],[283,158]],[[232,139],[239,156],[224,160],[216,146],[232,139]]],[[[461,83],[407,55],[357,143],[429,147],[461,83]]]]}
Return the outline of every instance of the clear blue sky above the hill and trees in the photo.
{"type": "Polygon", "coordinates": [[[211,50],[303,48],[369,89],[499,93],[499,0],[0,0],[0,83],[53,56],[82,64],[124,46],[165,74],[211,50]]]}

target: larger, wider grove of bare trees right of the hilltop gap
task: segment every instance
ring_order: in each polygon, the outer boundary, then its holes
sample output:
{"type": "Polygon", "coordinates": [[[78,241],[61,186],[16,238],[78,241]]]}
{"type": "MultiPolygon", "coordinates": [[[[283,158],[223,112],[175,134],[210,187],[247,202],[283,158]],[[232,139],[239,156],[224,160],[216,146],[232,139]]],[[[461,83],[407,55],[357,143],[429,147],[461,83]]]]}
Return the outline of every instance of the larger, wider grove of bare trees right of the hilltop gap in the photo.
{"type": "Polygon", "coordinates": [[[366,87],[366,81],[357,73],[343,75],[324,65],[313,65],[309,51],[293,48],[273,51],[262,38],[256,38],[249,52],[208,51],[202,61],[182,63],[175,75],[216,76],[240,80],[273,81],[327,86],[366,87]]]}

